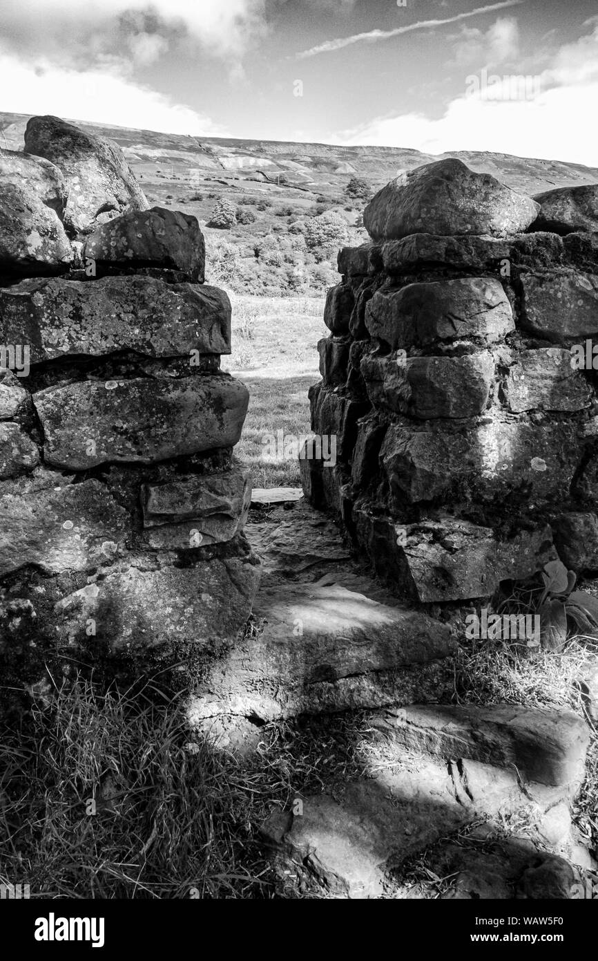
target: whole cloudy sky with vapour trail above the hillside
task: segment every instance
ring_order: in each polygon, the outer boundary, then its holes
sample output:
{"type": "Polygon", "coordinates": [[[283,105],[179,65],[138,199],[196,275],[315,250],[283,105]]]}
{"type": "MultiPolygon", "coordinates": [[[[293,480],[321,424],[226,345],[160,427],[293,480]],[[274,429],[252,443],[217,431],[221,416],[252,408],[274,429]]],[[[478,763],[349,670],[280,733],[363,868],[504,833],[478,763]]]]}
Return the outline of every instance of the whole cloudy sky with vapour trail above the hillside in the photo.
{"type": "Polygon", "coordinates": [[[4,0],[1,109],[598,166],[598,0],[4,0]]]}

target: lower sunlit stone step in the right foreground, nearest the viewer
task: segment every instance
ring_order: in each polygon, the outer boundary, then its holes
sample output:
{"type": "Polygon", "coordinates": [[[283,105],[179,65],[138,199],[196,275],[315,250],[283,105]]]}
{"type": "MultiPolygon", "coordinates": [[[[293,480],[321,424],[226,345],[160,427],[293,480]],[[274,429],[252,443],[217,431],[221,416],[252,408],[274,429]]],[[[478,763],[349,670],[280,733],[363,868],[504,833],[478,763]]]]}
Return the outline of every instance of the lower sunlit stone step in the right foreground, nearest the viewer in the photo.
{"type": "MultiPolygon", "coordinates": [[[[275,811],[262,825],[282,870],[306,868],[338,897],[383,897],[392,888],[389,873],[406,858],[480,818],[499,833],[505,825],[520,825],[515,847],[524,856],[511,880],[538,866],[538,849],[590,866],[569,809],[588,742],[576,715],[505,704],[418,705],[385,715],[373,718],[372,727],[389,736],[366,764],[369,777],[343,785],[334,796],[297,798],[293,811],[275,811]]],[[[473,869],[482,876],[486,870],[473,869]]],[[[464,877],[454,897],[467,897],[472,882],[463,858],[458,872],[464,877]]],[[[564,875],[557,875],[558,887],[564,875]]]]}

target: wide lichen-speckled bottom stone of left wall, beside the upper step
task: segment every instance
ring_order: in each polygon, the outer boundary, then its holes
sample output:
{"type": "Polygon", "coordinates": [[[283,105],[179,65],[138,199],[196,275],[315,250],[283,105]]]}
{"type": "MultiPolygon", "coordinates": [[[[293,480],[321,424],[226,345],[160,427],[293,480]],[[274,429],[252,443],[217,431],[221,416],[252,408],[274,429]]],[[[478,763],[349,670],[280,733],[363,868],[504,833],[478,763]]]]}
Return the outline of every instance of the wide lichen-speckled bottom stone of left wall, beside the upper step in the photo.
{"type": "MultiPolygon", "coordinates": [[[[80,486],[80,485],[78,485],[80,486]]],[[[214,654],[235,640],[251,612],[259,568],[240,558],[200,560],[188,567],[143,570],[129,566],[108,573],[56,605],[60,637],[71,645],[94,643],[141,665],[156,653],[177,662],[214,654]]]]}

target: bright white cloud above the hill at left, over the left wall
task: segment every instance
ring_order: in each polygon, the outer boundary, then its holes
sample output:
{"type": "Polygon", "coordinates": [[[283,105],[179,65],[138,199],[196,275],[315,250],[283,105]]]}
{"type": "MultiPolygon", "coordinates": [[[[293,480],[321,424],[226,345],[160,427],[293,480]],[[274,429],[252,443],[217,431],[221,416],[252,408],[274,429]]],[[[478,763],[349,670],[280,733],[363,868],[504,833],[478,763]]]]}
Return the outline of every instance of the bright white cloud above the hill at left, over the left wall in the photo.
{"type": "Polygon", "coordinates": [[[48,61],[36,65],[0,53],[3,110],[62,117],[168,134],[229,136],[203,113],[140,86],[114,69],[73,70],[48,61]]]}

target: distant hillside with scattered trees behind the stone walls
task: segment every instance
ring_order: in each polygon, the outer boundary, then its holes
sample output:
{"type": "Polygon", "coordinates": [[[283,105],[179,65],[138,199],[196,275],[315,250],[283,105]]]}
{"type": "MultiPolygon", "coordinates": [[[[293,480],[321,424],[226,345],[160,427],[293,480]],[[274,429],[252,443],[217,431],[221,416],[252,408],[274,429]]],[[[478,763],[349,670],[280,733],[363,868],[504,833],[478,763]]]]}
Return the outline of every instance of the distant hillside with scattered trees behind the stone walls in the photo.
{"type": "MultiPolygon", "coordinates": [[[[21,150],[28,119],[0,112],[0,145],[21,150]]],[[[322,294],[336,283],[338,246],[366,239],[356,226],[365,202],[344,192],[350,177],[365,178],[375,192],[397,173],[439,160],[407,147],[180,136],[71,122],[118,143],[150,203],[198,218],[206,235],[209,279],[240,294],[322,294]],[[222,198],[237,209],[239,222],[231,230],[205,229],[222,198]],[[304,225],[325,210],[337,211],[347,232],[337,243],[314,250],[305,243],[304,225]]],[[[598,182],[597,168],[561,160],[472,151],[440,156],[458,157],[472,170],[527,194],[598,182]]]]}

